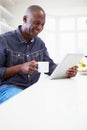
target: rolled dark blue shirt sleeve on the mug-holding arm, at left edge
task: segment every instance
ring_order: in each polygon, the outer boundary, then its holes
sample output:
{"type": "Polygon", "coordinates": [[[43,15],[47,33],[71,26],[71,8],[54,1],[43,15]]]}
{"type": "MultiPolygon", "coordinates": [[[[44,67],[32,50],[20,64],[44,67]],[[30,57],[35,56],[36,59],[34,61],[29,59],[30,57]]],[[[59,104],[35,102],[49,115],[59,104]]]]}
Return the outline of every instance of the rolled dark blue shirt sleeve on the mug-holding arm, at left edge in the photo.
{"type": "Polygon", "coordinates": [[[5,40],[2,36],[0,36],[0,82],[4,78],[4,74],[6,72],[6,55],[5,55],[5,40]]]}

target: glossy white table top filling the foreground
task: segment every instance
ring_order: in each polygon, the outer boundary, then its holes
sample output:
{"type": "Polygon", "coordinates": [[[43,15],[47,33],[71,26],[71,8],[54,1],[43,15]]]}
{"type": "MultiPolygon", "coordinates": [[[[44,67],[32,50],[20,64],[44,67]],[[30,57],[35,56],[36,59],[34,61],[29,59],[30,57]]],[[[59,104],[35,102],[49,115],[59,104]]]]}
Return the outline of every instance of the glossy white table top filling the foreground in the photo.
{"type": "Polygon", "coordinates": [[[86,82],[40,79],[0,105],[0,130],[87,130],[86,82]]]}

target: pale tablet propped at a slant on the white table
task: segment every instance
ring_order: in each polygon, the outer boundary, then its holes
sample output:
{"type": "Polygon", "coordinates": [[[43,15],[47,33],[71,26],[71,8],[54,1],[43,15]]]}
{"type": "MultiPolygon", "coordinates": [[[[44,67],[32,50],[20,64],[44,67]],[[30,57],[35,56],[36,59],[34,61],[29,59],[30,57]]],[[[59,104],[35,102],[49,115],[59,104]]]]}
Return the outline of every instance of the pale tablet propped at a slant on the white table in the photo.
{"type": "Polygon", "coordinates": [[[62,62],[55,68],[53,73],[50,75],[50,79],[66,78],[66,71],[78,64],[78,62],[83,58],[83,54],[70,53],[67,54],[62,62]]]}

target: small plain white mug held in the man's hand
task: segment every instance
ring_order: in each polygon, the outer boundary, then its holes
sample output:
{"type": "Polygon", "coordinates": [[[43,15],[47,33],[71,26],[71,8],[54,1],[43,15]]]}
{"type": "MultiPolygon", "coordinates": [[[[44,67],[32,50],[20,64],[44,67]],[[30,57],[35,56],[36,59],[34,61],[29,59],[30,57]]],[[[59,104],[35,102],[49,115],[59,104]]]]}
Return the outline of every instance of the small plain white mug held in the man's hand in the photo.
{"type": "Polygon", "coordinates": [[[48,73],[49,72],[49,62],[47,62],[47,61],[38,62],[38,72],[48,73]]]}

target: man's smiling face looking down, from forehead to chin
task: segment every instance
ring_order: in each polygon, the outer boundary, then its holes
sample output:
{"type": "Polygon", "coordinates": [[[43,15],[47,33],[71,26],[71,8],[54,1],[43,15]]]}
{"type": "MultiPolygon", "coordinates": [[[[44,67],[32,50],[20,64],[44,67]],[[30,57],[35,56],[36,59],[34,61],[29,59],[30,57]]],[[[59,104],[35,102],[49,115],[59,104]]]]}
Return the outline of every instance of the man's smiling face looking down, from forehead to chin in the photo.
{"type": "Polygon", "coordinates": [[[37,36],[44,27],[45,24],[45,15],[43,12],[33,13],[27,16],[26,19],[26,33],[31,36],[37,36]]]}

